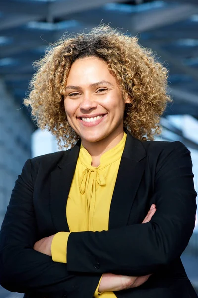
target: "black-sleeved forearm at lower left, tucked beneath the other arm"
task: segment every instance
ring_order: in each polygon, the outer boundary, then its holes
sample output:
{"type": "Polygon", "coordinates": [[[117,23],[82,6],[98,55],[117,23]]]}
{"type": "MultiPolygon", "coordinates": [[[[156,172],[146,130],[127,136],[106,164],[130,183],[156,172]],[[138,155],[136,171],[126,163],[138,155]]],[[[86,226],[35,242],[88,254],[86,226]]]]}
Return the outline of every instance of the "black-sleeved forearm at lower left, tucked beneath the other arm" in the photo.
{"type": "Polygon", "coordinates": [[[1,250],[0,284],[11,292],[50,298],[73,293],[78,298],[92,298],[100,277],[71,274],[66,264],[53,262],[33,249],[8,246],[1,250]]]}

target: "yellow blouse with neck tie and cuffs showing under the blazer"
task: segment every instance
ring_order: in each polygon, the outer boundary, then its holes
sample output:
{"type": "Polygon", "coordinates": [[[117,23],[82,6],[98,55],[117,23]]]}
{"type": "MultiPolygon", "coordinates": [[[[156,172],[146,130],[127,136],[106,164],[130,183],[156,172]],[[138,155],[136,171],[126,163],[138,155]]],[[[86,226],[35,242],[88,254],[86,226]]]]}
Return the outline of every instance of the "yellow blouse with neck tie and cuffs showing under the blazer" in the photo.
{"type": "MultiPolygon", "coordinates": [[[[70,232],[108,230],[111,198],[126,136],[124,133],[122,140],[101,156],[98,167],[91,165],[92,157],[81,144],[66,207],[70,232]]],[[[54,236],[51,245],[54,262],[67,263],[66,248],[69,234],[59,232],[54,236]]],[[[113,292],[99,293],[99,284],[94,297],[116,297],[113,292]]]]}

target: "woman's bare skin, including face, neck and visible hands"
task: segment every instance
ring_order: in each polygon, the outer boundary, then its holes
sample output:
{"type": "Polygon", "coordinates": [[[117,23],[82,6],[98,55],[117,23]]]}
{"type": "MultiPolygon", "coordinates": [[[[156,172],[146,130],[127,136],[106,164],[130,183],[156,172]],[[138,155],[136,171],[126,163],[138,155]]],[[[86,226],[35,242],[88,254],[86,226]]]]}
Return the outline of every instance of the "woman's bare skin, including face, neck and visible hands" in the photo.
{"type": "MultiPolygon", "coordinates": [[[[91,155],[93,166],[99,166],[101,155],[122,140],[125,103],[130,102],[129,96],[123,97],[115,77],[103,60],[92,56],[78,59],[72,64],[65,89],[65,113],[70,126],[81,137],[83,146],[91,155]],[[86,125],[87,122],[79,118],[100,114],[105,117],[99,123],[92,123],[92,126],[86,125]]],[[[149,222],[155,212],[156,206],[153,204],[142,223],[149,222]]],[[[51,256],[54,236],[37,241],[34,249],[51,256]]],[[[138,287],[146,282],[149,276],[104,273],[98,291],[138,287]]]]}

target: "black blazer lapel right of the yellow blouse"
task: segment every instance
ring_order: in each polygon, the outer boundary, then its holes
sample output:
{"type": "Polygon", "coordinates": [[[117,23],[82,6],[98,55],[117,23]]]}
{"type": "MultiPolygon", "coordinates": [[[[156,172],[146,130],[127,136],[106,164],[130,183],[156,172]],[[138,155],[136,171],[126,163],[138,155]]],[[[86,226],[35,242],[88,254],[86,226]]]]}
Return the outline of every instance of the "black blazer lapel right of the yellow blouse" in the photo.
{"type": "Polygon", "coordinates": [[[128,131],[114,187],[109,213],[109,229],[127,225],[133,201],[144,173],[145,149],[128,131]]]}

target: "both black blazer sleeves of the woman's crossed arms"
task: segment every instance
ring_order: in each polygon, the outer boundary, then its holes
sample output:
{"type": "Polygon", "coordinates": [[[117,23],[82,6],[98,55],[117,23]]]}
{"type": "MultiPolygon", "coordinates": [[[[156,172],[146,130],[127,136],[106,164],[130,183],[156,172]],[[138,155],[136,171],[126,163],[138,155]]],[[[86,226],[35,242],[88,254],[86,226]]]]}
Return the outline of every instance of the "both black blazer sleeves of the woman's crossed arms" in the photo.
{"type": "Polygon", "coordinates": [[[28,160],[16,181],[0,232],[0,284],[9,291],[38,298],[63,294],[92,298],[103,273],[149,275],[179,257],[193,232],[197,194],[188,149],[173,142],[163,150],[150,198],[157,206],[151,221],[109,231],[71,233],[67,264],[53,262],[49,255],[33,249],[38,233],[32,200],[34,166],[28,160]],[[98,271],[94,259],[101,262],[98,271]]]}

